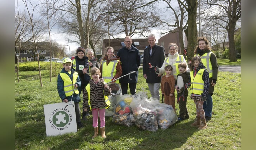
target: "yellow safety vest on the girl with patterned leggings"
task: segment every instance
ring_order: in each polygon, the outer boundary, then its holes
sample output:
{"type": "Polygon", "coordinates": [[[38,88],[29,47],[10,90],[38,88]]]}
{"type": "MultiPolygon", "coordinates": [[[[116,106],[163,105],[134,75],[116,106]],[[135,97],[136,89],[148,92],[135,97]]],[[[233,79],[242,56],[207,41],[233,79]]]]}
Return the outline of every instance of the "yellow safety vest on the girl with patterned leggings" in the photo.
{"type": "Polygon", "coordinates": [[[203,81],[203,73],[205,69],[200,69],[196,76],[194,77],[194,71],[190,71],[190,93],[202,95],[204,91],[204,81],[203,81]]]}

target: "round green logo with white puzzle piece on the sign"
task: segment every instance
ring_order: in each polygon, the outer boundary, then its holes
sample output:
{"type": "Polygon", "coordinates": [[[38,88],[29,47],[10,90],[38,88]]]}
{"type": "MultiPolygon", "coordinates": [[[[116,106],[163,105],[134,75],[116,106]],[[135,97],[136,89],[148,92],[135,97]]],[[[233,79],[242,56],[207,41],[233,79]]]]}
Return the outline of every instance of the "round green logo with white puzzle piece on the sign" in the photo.
{"type": "Polygon", "coordinates": [[[52,121],[56,127],[65,127],[69,122],[69,115],[65,111],[58,111],[53,115],[52,121]]]}

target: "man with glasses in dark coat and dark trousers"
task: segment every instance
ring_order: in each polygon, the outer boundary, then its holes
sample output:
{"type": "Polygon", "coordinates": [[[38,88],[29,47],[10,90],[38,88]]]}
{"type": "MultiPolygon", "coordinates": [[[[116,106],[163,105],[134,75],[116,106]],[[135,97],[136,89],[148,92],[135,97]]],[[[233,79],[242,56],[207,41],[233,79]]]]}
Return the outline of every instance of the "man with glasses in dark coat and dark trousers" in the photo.
{"type": "Polygon", "coordinates": [[[130,74],[129,76],[122,77],[119,79],[122,93],[127,94],[128,83],[130,92],[132,95],[136,93],[136,84],[138,82],[138,68],[140,66],[140,53],[139,50],[132,45],[132,38],[126,36],[124,38],[125,46],[118,50],[117,56],[120,57],[121,66],[122,66],[122,76],[130,73],[131,71],[137,71],[136,73],[130,74]]]}

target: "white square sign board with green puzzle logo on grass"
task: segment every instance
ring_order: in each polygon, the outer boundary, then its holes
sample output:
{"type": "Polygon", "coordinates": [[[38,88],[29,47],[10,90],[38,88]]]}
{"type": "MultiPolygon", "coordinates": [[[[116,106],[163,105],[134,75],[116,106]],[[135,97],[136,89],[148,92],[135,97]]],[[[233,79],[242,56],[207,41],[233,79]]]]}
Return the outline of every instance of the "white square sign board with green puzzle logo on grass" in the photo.
{"type": "Polygon", "coordinates": [[[74,101],[44,105],[46,135],[77,132],[74,101]]]}

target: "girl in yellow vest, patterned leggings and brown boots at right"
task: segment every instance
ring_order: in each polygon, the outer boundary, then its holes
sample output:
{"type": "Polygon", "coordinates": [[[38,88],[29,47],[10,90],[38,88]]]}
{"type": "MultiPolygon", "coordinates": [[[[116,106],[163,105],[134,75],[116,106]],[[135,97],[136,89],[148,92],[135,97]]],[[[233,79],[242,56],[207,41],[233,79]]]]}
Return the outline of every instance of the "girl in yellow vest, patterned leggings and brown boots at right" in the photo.
{"type": "Polygon", "coordinates": [[[194,123],[191,124],[191,126],[199,127],[198,129],[201,130],[207,128],[203,103],[206,101],[206,97],[209,91],[209,73],[203,65],[200,56],[195,56],[192,59],[191,65],[192,71],[190,71],[190,98],[194,100],[197,112],[196,119],[194,123]]]}

